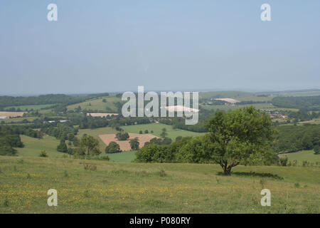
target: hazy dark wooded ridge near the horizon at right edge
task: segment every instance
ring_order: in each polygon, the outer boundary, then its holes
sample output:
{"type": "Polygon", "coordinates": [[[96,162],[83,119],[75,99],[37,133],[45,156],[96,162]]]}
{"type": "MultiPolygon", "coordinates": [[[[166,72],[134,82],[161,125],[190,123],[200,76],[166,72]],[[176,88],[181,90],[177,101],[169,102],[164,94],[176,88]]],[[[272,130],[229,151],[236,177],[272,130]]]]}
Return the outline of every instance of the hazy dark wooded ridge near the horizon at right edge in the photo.
{"type": "Polygon", "coordinates": [[[275,97],[272,105],[281,108],[298,108],[300,110],[320,110],[320,95],[303,97],[275,97]]]}

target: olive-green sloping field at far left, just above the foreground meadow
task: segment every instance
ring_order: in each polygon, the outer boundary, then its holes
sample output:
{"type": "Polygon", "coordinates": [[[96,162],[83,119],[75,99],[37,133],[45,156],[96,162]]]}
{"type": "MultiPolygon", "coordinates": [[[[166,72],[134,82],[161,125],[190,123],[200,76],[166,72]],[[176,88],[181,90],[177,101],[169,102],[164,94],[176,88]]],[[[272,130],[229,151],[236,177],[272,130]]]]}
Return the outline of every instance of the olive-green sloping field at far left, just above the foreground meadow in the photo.
{"type": "Polygon", "coordinates": [[[46,150],[49,157],[61,157],[63,152],[57,151],[57,146],[60,140],[54,137],[44,135],[42,139],[31,138],[26,135],[20,135],[24,144],[23,148],[16,148],[18,150],[18,156],[23,157],[36,157],[40,154],[41,150],[46,150]]]}

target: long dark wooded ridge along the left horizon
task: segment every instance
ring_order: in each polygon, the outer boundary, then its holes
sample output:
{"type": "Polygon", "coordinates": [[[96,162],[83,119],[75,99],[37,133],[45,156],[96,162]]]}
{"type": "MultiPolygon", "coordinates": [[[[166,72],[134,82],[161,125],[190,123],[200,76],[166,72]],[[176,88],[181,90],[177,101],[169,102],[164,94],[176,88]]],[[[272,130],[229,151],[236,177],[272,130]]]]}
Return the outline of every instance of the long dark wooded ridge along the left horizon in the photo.
{"type": "Polygon", "coordinates": [[[0,96],[0,108],[18,105],[47,105],[62,103],[71,105],[81,103],[85,100],[107,96],[109,93],[97,93],[90,95],[65,95],[65,94],[48,94],[30,97],[13,97],[13,96],[0,96]]]}

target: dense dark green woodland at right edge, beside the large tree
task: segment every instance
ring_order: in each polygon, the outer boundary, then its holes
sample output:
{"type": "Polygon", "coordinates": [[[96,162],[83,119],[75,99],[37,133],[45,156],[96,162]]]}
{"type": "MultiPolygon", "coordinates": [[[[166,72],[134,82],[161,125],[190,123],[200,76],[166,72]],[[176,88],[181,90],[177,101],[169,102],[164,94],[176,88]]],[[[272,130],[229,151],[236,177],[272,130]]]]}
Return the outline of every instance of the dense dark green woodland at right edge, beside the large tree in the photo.
{"type": "Polygon", "coordinates": [[[273,145],[276,152],[311,150],[320,145],[320,125],[282,125],[277,130],[278,140],[273,145]]]}

